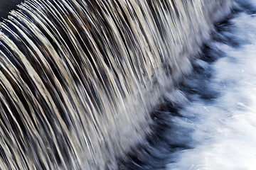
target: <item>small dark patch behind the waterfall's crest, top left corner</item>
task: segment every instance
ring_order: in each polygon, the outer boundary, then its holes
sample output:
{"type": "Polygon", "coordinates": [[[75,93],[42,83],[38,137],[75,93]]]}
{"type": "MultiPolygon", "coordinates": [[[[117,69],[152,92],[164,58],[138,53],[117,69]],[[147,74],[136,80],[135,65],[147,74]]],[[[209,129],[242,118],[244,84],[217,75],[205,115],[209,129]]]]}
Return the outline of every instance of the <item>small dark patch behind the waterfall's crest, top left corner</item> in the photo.
{"type": "Polygon", "coordinates": [[[16,5],[20,4],[23,0],[1,0],[0,1],[0,21],[7,18],[11,10],[16,9],[16,5]]]}

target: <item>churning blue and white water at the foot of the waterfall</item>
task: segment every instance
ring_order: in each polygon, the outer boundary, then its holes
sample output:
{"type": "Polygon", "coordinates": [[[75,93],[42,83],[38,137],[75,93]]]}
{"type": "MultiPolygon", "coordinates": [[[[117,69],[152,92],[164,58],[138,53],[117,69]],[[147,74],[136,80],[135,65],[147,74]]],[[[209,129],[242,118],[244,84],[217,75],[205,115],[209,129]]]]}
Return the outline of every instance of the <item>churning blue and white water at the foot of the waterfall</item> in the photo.
{"type": "Polygon", "coordinates": [[[255,30],[256,1],[236,1],[124,169],[256,169],[255,30]]]}

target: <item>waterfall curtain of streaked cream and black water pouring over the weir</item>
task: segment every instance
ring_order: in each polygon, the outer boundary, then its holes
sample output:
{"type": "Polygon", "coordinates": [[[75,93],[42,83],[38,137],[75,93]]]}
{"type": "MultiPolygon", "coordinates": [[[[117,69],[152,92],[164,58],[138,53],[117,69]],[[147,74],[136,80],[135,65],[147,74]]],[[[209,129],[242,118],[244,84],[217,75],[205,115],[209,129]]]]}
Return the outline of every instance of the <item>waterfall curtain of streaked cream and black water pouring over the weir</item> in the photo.
{"type": "Polygon", "coordinates": [[[117,169],[231,4],[18,5],[0,26],[0,169],[117,169]]]}

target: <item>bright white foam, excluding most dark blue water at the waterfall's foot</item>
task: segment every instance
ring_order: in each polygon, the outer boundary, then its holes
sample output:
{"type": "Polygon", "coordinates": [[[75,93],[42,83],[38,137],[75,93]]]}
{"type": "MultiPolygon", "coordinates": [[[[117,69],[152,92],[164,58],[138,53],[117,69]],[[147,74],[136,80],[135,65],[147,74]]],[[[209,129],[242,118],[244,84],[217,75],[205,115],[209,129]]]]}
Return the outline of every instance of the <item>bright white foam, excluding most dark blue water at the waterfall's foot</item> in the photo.
{"type": "Polygon", "coordinates": [[[174,122],[191,132],[191,149],[172,155],[167,169],[256,169],[256,1],[240,1],[235,8],[242,12],[219,26],[208,43],[210,57],[218,59],[198,60],[203,74],[184,83],[212,97],[183,94],[190,98],[180,112],[185,118],[174,122]]]}

